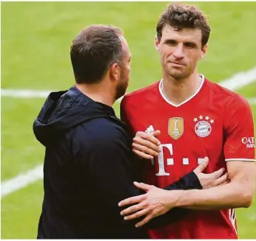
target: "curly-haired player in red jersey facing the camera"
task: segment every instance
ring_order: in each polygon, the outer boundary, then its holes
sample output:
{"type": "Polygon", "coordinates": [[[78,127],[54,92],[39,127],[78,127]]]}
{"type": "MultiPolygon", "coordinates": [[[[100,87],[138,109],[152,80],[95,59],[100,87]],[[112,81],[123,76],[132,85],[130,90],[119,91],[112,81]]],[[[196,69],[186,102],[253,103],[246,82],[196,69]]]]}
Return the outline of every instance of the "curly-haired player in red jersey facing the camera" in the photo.
{"type": "Polygon", "coordinates": [[[127,94],[121,102],[121,119],[137,133],[134,152],[143,158],[155,156],[153,161],[141,160],[144,181],[150,185],[135,184],[146,194],[121,201],[120,206],[132,204],[121,214],[126,220],[145,216],[139,227],[171,208],[192,209],[183,219],[150,230],[150,237],[238,238],[234,209],[249,207],[255,192],[249,103],[198,74],[210,33],[200,10],[170,4],[156,29],[163,78],[127,94]],[[205,156],[206,172],[225,167],[229,184],[203,190],[161,189],[193,170],[205,156]]]}

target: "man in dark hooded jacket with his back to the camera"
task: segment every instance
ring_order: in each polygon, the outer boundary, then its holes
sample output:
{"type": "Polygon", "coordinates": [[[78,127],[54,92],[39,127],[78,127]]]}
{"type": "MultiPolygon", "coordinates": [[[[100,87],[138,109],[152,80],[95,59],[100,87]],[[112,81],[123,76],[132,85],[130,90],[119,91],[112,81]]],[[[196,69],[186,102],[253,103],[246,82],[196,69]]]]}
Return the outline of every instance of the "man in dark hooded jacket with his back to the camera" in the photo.
{"type": "MultiPolygon", "coordinates": [[[[90,26],[75,37],[70,57],[75,86],[51,93],[33,125],[46,147],[38,238],[146,238],[118,207],[139,195],[133,185],[139,176],[132,140],[112,109],[129,81],[127,41],[118,28],[90,26]]],[[[166,187],[175,188],[201,184],[192,172],[166,187]]],[[[168,222],[181,216],[176,210],[168,222]]]]}

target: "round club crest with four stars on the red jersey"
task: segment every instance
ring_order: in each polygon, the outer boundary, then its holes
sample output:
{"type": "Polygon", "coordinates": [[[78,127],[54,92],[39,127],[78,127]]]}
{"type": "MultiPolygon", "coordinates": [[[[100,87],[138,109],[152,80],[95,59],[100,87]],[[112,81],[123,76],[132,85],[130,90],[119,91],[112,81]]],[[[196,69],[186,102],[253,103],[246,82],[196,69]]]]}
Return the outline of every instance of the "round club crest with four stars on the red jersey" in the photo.
{"type": "Polygon", "coordinates": [[[209,116],[199,116],[199,118],[194,118],[195,124],[195,133],[200,137],[209,136],[212,132],[212,123],[214,123],[214,119],[209,121],[209,116]]]}

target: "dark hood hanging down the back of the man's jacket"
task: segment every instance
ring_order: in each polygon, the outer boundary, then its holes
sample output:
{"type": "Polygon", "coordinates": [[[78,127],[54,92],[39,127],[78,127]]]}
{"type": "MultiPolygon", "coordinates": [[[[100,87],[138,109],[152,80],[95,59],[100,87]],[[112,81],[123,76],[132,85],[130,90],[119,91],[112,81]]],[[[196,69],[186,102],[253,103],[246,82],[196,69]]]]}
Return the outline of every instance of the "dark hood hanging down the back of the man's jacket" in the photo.
{"type": "Polygon", "coordinates": [[[50,93],[33,123],[33,132],[38,142],[47,146],[76,125],[102,117],[116,119],[113,108],[95,102],[73,86],[50,93]]]}

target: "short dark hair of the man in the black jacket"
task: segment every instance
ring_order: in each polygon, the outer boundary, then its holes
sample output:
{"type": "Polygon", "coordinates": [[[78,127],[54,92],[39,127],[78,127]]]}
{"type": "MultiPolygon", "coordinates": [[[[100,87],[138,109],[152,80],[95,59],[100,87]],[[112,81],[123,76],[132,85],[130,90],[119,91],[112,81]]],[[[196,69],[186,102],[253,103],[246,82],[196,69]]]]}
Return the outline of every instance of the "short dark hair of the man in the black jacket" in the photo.
{"type": "Polygon", "coordinates": [[[91,25],[78,33],[70,49],[76,83],[98,83],[112,63],[121,64],[121,29],[110,25],[91,25]]]}

